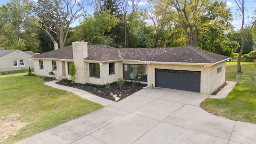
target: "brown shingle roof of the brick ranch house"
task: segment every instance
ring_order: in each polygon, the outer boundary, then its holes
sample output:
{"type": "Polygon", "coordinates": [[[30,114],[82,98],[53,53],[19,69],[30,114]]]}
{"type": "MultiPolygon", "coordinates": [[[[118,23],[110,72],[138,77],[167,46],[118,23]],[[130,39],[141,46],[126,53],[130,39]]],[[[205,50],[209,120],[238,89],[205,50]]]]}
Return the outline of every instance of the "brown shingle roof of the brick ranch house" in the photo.
{"type": "MultiPolygon", "coordinates": [[[[72,45],[33,56],[33,58],[73,59],[72,45]]],[[[181,48],[113,48],[106,45],[88,45],[85,60],[140,60],[149,62],[215,63],[229,58],[192,46],[181,48]]]]}

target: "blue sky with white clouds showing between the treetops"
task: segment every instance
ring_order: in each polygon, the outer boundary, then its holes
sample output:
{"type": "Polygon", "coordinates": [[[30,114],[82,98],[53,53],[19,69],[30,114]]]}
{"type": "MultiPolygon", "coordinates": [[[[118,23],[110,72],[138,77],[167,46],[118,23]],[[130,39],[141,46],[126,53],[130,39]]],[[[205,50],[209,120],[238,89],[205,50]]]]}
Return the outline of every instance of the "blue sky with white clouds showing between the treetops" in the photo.
{"type": "MultiPolygon", "coordinates": [[[[6,2],[9,2],[10,0],[0,0],[0,4],[6,4],[6,2]]],[[[144,1],[144,0],[142,0],[144,1]]],[[[145,3],[143,2],[143,4],[141,5],[145,5],[145,3]]],[[[235,0],[227,0],[227,5],[228,5],[228,8],[230,8],[232,14],[233,14],[233,22],[232,25],[235,27],[235,30],[238,30],[241,28],[241,19],[236,16],[236,9],[238,8],[235,0]]],[[[253,14],[252,12],[255,10],[256,8],[256,2],[254,0],[245,0],[245,7],[248,8],[248,12],[246,12],[246,16],[251,16],[251,15],[255,15],[253,14]]],[[[90,10],[90,9],[88,9],[90,10]]],[[[93,12],[93,10],[90,10],[91,12],[93,12]]],[[[88,11],[89,12],[89,11],[88,11]]],[[[250,19],[247,19],[244,23],[244,25],[248,25],[248,24],[251,24],[251,20],[250,19]]],[[[76,25],[79,24],[79,20],[76,20],[76,22],[74,22],[71,26],[74,27],[76,25]]]]}

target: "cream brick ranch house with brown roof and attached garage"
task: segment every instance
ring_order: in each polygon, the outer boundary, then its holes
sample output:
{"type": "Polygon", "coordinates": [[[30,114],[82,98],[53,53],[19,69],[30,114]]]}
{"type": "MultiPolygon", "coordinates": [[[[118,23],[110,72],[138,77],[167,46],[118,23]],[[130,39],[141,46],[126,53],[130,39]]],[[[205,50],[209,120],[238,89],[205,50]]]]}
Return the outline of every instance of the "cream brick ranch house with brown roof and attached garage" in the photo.
{"type": "Polygon", "coordinates": [[[32,57],[36,75],[70,79],[76,83],[107,84],[123,78],[148,86],[212,94],[225,82],[227,56],[192,46],[181,48],[113,48],[73,42],[71,46],[32,57]]]}

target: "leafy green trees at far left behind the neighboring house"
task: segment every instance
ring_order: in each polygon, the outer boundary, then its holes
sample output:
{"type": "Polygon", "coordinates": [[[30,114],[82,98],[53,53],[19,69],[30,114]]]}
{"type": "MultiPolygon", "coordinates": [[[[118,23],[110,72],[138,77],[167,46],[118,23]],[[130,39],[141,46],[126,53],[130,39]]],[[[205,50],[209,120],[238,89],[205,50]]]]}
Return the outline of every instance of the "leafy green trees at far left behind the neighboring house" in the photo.
{"type": "Polygon", "coordinates": [[[38,52],[36,18],[28,0],[12,0],[0,6],[0,45],[7,49],[38,52]]]}

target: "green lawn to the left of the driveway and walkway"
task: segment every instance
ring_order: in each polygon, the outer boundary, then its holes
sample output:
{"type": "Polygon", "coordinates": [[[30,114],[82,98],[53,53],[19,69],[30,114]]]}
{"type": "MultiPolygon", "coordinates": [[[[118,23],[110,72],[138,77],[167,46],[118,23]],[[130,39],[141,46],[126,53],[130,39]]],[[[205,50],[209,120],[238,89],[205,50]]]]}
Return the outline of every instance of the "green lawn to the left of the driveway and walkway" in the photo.
{"type": "Polygon", "coordinates": [[[4,141],[11,144],[102,108],[73,93],[44,85],[41,76],[0,76],[0,119],[26,124],[4,141]]]}

